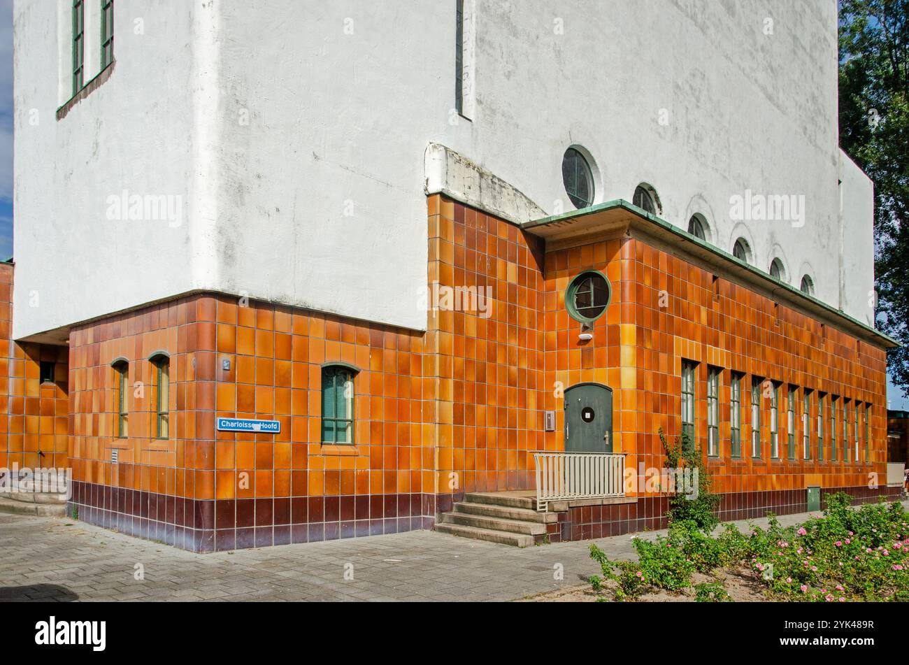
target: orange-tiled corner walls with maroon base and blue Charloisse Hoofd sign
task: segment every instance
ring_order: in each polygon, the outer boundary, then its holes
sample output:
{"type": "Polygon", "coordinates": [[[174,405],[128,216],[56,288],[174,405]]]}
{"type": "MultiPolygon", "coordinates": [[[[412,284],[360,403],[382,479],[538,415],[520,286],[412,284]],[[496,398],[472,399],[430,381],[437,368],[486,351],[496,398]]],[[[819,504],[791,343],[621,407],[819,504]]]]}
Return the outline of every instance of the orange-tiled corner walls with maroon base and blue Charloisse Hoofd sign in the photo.
{"type": "Polygon", "coordinates": [[[147,514],[127,531],[199,550],[423,528],[435,514],[435,497],[426,501],[435,492],[433,410],[425,408],[434,386],[422,376],[423,338],[211,295],[82,326],[71,335],[75,501],[118,528],[138,501],[147,514]],[[166,441],[151,435],[148,358],[159,350],[170,353],[166,441]],[[133,386],[126,440],[114,436],[117,358],[129,362],[133,386]],[[355,445],[321,443],[325,362],[360,370],[355,445]],[[216,432],[219,417],[276,420],[281,432],[216,432]],[[295,536],[292,525],[301,527],[295,536]]]}

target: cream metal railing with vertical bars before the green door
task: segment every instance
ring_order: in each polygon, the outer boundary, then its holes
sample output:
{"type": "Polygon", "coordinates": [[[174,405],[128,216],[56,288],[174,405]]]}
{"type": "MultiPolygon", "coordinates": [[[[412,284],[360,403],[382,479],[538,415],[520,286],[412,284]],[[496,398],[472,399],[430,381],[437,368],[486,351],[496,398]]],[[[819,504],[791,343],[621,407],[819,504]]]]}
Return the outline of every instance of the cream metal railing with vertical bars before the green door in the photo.
{"type": "Polygon", "coordinates": [[[534,452],[536,510],[550,501],[624,496],[624,453],[534,452]]]}

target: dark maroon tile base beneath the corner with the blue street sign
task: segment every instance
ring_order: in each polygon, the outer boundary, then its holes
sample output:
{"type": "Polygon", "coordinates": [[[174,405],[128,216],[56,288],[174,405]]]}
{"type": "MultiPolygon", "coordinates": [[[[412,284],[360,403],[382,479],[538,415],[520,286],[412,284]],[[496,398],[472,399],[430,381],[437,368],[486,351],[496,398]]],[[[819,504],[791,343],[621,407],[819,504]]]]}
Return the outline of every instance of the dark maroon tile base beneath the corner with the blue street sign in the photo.
{"type": "Polygon", "coordinates": [[[80,521],[195,552],[242,550],[432,529],[451,494],[195,501],[74,481],[80,521]]]}

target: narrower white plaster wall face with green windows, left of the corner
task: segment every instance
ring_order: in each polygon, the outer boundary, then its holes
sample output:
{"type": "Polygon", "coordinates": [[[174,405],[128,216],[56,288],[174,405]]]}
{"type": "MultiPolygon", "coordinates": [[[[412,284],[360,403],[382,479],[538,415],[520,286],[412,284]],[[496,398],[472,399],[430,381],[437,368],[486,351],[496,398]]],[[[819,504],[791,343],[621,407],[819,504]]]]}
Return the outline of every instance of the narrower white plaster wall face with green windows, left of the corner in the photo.
{"type": "MultiPolygon", "coordinates": [[[[195,3],[117,0],[115,71],[57,121],[71,93],[70,46],[59,44],[71,18],[59,4],[14,7],[15,338],[184,293],[199,264],[195,3]],[[108,219],[108,197],[124,190],[180,197],[182,223],[108,219]]],[[[86,82],[100,69],[98,20],[86,12],[86,82]]]]}

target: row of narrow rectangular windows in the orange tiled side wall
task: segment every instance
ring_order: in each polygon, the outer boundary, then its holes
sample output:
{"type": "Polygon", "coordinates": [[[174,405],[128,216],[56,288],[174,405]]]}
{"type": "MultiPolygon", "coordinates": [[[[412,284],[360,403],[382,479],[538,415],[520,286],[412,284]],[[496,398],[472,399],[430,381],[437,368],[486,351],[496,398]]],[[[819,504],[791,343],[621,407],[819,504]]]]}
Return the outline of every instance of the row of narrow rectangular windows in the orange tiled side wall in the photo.
{"type": "MultiPolygon", "coordinates": [[[[696,435],[696,376],[698,363],[682,363],[682,432],[689,444],[696,435]]],[[[724,370],[707,368],[707,455],[724,454],[720,433],[720,385],[724,370]]],[[[870,462],[872,405],[844,397],[813,391],[795,385],[785,390],[785,402],[780,402],[783,383],[752,376],[750,386],[741,372],[729,375],[729,455],[741,459],[743,451],[743,413],[749,412],[751,437],[750,453],[761,459],[768,443],[770,458],[780,460],[812,460],[818,462],[870,462]],[[747,399],[747,402],[745,400],[747,399]],[[762,406],[770,402],[770,422],[762,422],[762,406]],[[784,410],[785,440],[781,441],[781,409],[784,410]],[[781,450],[785,445],[785,450],[781,450]]]]}

